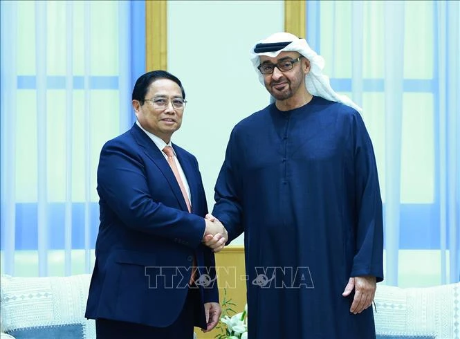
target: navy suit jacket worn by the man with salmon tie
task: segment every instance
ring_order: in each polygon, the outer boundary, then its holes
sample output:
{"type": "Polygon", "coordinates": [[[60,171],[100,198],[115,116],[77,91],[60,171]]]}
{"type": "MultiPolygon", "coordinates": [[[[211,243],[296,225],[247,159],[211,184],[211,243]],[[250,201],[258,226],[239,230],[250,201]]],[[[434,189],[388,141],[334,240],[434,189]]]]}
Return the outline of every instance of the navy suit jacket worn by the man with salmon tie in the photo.
{"type": "MultiPolygon", "coordinates": [[[[219,302],[214,254],[201,244],[208,208],[198,163],[173,148],[190,186],[192,213],[162,152],[138,125],[102,147],[100,227],[86,318],[172,324],[187,296],[193,257],[206,277],[199,279],[202,303],[219,302]]],[[[195,325],[205,328],[201,319],[195,325]]]]}

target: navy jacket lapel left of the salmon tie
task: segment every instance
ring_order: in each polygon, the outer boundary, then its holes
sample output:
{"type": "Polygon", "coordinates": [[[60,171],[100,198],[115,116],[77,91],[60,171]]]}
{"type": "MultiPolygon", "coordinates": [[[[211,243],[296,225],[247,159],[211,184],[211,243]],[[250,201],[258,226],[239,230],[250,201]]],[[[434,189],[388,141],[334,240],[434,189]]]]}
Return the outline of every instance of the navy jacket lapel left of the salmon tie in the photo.
{"type": "Polygon", "coordinates": [[[151,138],[149,138],[149,136],[147,136],[147,134],[145,134],[144,131],[138,127],[138,125],[134,124],[134,126],[131,128],[131,132],[134,135],[138,145],[144,149],[145,154],[151,159],[151,161],[155,163],[156,167],[158,167],[158,169],[165,176],[167,182],[169,183],[169,187],[171,187],[171,190],[176,196],[178,203],[181,205],[182,210],[187,211],[187,205],[185,204],[185,200],[181,192],[181,187],[179,187],[176,177],[174,176],[171,167],[169,167],[165,156],[163,156],[163,153],[160,151],[160,149],[158,149],[158,147],[156,147],[151,138]]]}

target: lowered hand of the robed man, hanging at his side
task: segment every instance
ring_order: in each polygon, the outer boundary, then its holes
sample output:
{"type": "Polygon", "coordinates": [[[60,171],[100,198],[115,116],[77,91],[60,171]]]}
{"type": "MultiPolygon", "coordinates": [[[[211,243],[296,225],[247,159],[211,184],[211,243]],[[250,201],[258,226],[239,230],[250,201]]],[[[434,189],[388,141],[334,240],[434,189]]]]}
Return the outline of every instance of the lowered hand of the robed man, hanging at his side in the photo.
{"type": "Polygon", "coordinates": [[[376,277],[365,275],[363,277],[351,277],[342,295],[347,297],[355,289],[355,297],[350,307],[350,312],[358,314],[372,305],[376,294],[376,277]]]}

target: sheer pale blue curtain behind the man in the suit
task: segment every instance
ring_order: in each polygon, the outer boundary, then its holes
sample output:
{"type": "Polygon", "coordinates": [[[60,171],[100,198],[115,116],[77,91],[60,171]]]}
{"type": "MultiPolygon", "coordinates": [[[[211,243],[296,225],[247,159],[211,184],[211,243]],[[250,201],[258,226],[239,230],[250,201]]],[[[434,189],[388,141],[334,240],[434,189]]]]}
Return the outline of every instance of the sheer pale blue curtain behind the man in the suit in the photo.
{"type": "Polygon", "coordinates": [[[145,1],[1,1],[2,273],[91,271],[98,153],[144,71],[145,1]]]}

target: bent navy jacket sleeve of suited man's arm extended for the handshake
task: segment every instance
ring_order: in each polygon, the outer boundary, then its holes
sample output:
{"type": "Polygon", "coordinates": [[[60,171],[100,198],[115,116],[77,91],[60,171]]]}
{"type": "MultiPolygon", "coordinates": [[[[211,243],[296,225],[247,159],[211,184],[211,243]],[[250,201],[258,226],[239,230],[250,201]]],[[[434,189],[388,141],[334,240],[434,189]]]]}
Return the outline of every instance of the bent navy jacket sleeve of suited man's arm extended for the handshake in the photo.
{"type": "Polygon", "coordinates": [[[129,228],[169,239],[180,237],[191,248],[201,244],[203,217],[154,201],[145,163],[127,143],[112,140],[102,147],[98,193],[129,228]]]}

